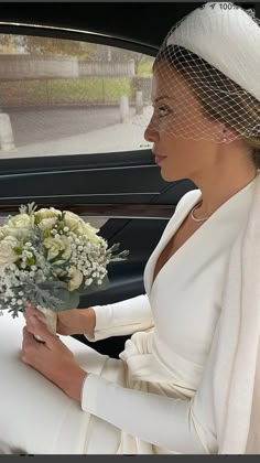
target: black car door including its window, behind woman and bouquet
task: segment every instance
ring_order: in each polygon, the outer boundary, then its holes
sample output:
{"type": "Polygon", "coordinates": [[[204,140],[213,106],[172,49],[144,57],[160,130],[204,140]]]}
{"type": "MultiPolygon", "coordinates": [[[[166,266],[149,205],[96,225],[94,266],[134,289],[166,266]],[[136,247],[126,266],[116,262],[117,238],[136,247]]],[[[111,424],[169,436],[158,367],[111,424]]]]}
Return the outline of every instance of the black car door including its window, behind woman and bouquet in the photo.
{"type": "MultiPolygon", "coordinates": [[[[143,138],[155,49],[14,26],[0,34],[0,215],[22,204],[79,214],[128,249],[79,308],[144,292],[143,269],[189,181],[166,183],[143,138]]],[[[82,341],[85,337],[79,336],[82,341]]],[[[117,356],[122,340],[96,343],[117,356]],[[111,348],[110,348],[111,347],[111,348]]]]}

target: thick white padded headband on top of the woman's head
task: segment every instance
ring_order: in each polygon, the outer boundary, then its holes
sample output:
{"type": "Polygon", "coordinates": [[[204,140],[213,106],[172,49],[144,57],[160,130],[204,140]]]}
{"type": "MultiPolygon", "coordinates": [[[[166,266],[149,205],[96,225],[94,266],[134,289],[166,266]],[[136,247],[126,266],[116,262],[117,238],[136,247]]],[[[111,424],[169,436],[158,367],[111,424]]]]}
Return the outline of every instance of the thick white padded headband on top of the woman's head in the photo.
{"type": "Polygon", "coordinates": [[[165,45],[197,54],[260,101],[260,26],[241,8],[206,3],[170,32],[165,45]]]}

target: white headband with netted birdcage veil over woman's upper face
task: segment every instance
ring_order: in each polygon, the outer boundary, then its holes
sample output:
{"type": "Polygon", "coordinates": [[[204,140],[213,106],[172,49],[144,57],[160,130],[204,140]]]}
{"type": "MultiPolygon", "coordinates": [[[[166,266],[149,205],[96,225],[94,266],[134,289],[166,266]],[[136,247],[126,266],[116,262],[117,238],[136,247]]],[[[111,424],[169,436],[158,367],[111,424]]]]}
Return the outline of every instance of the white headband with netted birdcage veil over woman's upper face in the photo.
{"type": "Polygon", "coordinates": [[[174,25],[154,62],[152,99],[150,129],[259,142],[260,21],[253,11],[209,2],[174,25]],[[226,138],[227,129],[232,137],[226,138]]]}

